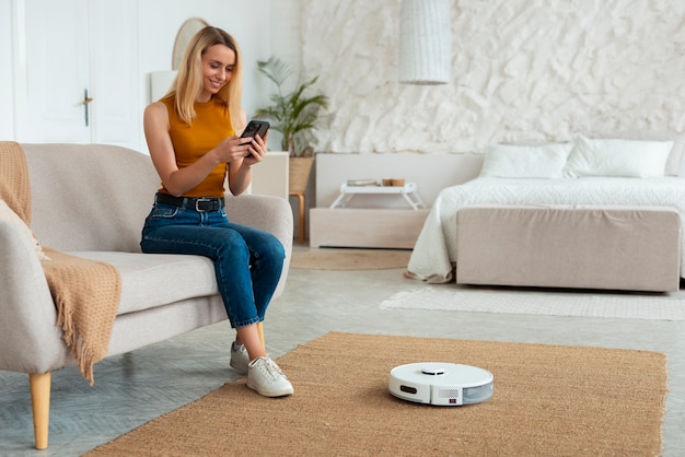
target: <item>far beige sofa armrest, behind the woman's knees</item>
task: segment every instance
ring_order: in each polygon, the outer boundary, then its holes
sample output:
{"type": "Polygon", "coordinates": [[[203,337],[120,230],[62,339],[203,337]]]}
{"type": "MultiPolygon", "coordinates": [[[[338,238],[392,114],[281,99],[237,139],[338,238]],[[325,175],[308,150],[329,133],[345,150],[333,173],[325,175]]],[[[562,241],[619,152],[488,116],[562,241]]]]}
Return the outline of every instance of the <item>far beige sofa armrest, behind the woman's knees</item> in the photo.
{"type": "Polygon", "coordinates": [[[242,195],[233,197],[227,195],[227,215],[229,221],[269,232],[276,236],[286,249],[286,260],[280,282],[274,297],[281,294],[292,255],[292,209],[290,202],[279,197],[242,195]]]}

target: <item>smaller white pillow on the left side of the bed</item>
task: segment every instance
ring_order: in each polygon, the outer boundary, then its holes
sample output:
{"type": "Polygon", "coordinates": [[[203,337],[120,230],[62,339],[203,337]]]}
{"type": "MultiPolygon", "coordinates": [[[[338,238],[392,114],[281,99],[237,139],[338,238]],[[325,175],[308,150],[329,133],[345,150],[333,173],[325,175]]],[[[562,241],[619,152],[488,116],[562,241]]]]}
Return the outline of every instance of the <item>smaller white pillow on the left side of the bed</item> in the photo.
{"type": "Polygon", "coordinates": [[[480,176],[498,178],[561,178],[572,143],[486,148],[480,176]]]}

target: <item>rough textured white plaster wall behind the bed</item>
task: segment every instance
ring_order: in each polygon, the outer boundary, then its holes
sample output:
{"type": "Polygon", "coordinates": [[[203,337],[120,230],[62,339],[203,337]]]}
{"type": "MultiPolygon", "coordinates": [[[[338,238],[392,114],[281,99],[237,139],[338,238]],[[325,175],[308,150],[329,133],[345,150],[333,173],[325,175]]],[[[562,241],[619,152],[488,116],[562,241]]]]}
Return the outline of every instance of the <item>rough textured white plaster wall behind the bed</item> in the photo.
{"type": "Polygon", "coordinates": [[[452,77],[397,83],[400,0],[302,0],[318,151],[465,152],[576,131],[685,130],[683,0],[454,0],[452,77]]]}

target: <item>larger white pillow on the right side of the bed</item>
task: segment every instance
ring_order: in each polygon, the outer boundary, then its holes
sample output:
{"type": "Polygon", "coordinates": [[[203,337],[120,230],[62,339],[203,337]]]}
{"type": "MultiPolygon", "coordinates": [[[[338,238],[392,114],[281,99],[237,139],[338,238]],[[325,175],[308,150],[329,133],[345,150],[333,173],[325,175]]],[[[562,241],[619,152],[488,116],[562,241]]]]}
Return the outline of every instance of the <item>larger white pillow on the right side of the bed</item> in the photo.
{"type": "Polygon", "coordinates": [[[664,176],[672,148],[673,141],[589,139],[578,134],[564,174],[568,177],[664,176]]]}

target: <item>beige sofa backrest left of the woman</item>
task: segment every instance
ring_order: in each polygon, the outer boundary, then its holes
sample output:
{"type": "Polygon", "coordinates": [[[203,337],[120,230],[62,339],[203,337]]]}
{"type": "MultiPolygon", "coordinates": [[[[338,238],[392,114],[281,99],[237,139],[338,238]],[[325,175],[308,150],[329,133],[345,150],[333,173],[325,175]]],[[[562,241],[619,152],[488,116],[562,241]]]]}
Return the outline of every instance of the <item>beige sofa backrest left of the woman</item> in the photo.
{"type": "Polygon", "coordinates": [[[31,227],[59,250],[140,251],[160,178],[150,156],[105,144],[22,144],[31,227]]]}

